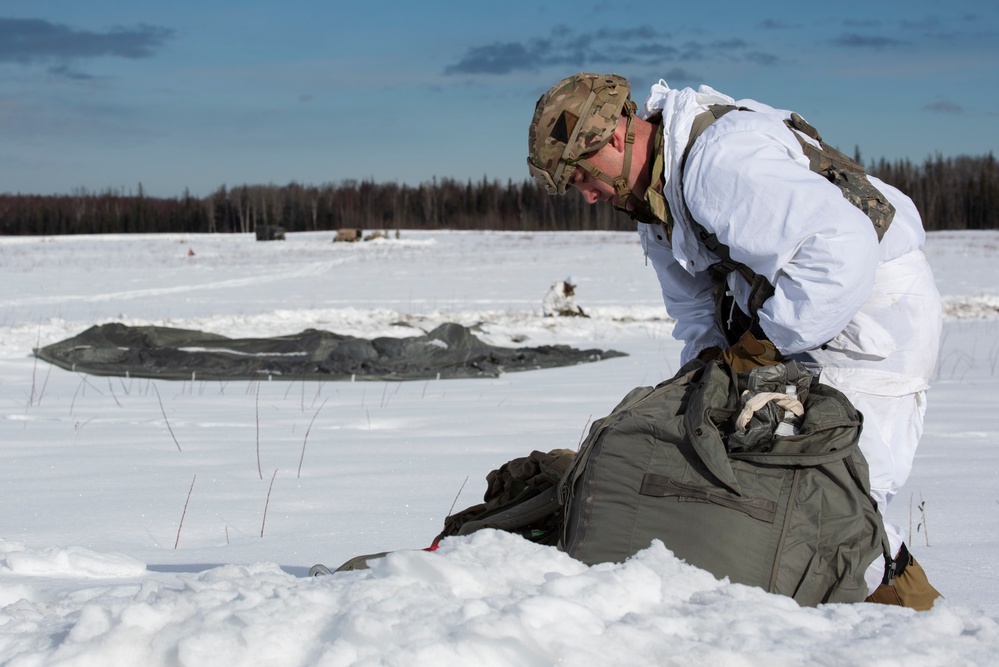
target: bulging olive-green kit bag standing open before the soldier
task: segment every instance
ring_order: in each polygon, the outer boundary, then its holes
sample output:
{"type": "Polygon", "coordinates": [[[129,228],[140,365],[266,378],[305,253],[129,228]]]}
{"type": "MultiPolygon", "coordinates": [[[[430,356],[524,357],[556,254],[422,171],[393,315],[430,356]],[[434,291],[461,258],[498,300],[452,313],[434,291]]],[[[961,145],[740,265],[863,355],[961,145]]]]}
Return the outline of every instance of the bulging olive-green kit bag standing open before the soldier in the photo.
{"type": "Polygon", "coordinates": [[[621,562],[658,539],[715,576],[803,605],[860,602],[887,544],[860,429],[846,397],[796,362],[738,375],[691,362],[592,425],[559,485],[559,548],[621,562]],[[773,405],[734,425],[746,396],[795,383],[796,434],[778,435],[785,411],[773,405]]]}

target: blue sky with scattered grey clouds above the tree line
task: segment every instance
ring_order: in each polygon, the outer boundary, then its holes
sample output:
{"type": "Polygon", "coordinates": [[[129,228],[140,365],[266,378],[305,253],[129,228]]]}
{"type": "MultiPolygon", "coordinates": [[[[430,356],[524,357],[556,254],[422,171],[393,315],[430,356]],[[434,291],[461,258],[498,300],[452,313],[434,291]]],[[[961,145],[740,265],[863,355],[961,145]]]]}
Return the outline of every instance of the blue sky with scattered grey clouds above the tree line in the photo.
{"type": "Polygon", "coordinates": [[[865,159],[999,143],[995,0],[0,0],[0,192],[519,182],[577,71],[793,109],[865,159]]]}

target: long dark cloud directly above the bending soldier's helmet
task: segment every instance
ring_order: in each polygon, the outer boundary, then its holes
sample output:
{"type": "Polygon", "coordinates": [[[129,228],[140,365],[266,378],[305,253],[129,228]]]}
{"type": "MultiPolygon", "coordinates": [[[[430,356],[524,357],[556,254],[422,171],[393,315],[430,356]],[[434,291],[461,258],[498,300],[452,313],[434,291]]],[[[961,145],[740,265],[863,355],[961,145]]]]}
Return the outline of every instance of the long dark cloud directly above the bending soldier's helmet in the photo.
{"type": "Polygon", "coordinates": [[[705,42],[687,40],[675,44],[669,33],[649,26],[619,30],[604,28],[588,33],[576,33],[560,26],[546,38],[469,47],[456,63],[444,68],[444,74],[503,75],[537,72],[547,67],[659,67],[670,60],[702,62],[718,54],[759,65],[778,62],[776,56],[751,51],[751,47],[751,44],[740,38],[705,42]],[[627,49],[622,49],[622,44],[627,45],[627,49]]]}

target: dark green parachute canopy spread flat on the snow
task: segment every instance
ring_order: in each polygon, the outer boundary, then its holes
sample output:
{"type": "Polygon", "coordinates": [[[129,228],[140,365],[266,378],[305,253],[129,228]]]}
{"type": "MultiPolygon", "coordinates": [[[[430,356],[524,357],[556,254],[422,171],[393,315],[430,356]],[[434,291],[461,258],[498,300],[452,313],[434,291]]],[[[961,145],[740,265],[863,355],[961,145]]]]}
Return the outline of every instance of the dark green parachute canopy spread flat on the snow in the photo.
{"type": "Polygon", "coordinates": [[[424,336],[367,340],[306,329],[274,338],[226,338],[112,323],[35,350],[67,370],[163,380],[429,380],[496,377],[626,356],[566,345],[487,345],[460,324],[424,336]]]}

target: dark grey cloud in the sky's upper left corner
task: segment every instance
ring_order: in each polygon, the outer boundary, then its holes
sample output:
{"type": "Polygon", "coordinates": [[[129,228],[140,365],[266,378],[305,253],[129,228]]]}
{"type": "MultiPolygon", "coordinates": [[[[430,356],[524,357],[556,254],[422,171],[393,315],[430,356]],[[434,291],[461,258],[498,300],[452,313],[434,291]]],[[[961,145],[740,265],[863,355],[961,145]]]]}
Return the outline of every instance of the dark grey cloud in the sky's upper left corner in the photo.
{"type": "Polygon", "coordinates": [[[174,31],[150,25],[77,30],[42,19],[0,18],[0,62],[69,61],[82,58],[149,58],[174,31]]]}

